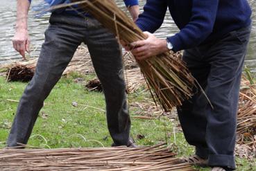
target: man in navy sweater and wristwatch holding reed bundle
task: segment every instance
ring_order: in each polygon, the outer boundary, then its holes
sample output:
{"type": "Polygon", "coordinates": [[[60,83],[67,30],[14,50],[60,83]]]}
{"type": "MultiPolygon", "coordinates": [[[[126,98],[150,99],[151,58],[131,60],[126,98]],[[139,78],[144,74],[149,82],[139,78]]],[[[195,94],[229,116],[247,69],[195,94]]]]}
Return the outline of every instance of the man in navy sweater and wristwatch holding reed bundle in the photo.
{"type": "Polygon", "coordinates": [[[134,42],[137,60],[185,50],[183,60],[205,90],[178,107],[187,142],[196,147],[198,164],[234,170],[237,105],[242,66],[250,35],[251,10],[246,0],[148,0],[137,26],[148,35],[134,42]],[[160,28],[167,8],[180,32],[167,39],[151,33],[160,28]]]}

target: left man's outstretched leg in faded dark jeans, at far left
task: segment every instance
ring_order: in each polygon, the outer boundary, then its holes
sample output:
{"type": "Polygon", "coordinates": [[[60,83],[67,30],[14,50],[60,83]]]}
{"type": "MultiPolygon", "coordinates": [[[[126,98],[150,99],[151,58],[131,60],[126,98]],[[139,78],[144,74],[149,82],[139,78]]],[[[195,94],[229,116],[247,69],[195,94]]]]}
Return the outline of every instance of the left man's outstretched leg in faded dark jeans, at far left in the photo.
{"type": "Polygon", "coordinates": [[[75,26],[58,23],[58,21],[70,20],[65,16],[51,16],[51,25],[45,32],[45,42],[42,45],[35,75],[19,101],[17,114],[8,137],[8,147],[27,143],[44,100],[60,79],[82,41],[83,34],[79,35],[75,26]]]}

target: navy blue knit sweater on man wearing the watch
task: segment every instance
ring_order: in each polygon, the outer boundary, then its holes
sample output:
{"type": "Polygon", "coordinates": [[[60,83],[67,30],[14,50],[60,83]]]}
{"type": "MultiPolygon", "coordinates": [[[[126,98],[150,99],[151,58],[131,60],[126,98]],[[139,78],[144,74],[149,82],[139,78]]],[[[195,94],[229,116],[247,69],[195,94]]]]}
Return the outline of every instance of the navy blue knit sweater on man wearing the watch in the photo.
{"type": "Polygon", "coordinates": [[[155,32],[162,25],[167,7],[180,28],[180,33],[168,37],[173,51],[207,44],[251,23],[247,0],[147,0],[137,26],[155,32]]]}

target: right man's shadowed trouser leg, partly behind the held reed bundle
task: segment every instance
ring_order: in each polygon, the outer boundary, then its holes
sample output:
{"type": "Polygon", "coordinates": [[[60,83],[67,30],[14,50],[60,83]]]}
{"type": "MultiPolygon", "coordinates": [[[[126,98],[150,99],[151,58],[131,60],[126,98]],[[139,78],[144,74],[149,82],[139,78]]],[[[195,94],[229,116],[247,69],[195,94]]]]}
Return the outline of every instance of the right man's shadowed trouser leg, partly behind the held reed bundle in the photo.
{"type": "MultiPolygon", "coordinates": [[[[185,51],[182,59],[186,62],[189,71],[191,71],[191,74],[196,78],[200,86],[205,89],[210,66],[203,61],[203,55],[200,53],[199,48],[191,48],[185,51]]],[[[207,104],[207,99],[198,87],[191,99],[185,100],[185,102],[182,102],[181,107],[177,107],[180,125],[185,138],[190,145],[196,147],[196,155],[202,159],[208,158],[205,141],[207,120],[204,111],[207,104]]]]}

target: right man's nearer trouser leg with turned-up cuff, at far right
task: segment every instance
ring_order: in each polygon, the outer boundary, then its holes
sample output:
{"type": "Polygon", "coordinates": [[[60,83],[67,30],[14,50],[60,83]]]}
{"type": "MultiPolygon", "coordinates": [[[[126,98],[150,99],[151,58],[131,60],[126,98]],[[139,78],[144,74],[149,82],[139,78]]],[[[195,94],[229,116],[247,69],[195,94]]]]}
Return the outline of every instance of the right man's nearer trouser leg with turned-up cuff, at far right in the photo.
{"type": "Polygon", "coordinates": [[[235,168],[239,86],[249,35],[250,28],[233,31],[216,42],[207,54],[211,70],[205,92],[214,106],[205,110],[208,164],[227,170],[235,168]]]}

